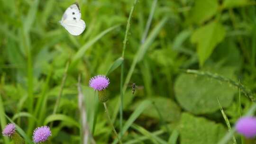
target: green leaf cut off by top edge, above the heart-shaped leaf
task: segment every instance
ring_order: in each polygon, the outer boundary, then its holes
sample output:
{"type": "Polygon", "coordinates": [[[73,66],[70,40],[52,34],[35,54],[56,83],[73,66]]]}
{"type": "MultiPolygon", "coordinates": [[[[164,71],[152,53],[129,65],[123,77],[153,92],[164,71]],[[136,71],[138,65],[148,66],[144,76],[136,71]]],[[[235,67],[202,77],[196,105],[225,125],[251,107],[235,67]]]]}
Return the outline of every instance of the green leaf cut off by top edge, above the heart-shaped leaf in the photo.
{"type": "Polygon", "coordinates": [[[218,7],[218,0],[195,0],[188,19],[193,23],[202,24],[217,13],[218,7]]]}

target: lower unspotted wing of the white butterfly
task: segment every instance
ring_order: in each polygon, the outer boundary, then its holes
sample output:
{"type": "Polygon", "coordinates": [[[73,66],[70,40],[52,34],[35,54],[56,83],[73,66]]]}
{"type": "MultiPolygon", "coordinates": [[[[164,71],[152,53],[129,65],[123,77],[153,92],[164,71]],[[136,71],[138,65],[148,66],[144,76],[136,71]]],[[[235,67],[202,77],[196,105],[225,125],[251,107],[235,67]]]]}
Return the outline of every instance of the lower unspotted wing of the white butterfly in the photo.
{"type": "Polygon", "coordinates": [[[82,19],[79,20],[64,20],[62,23],[62,26],[65,27],[65,29],[74,36],[78,36],[82,34],[84,31],[86,25],[85,22],[82,19]]]}

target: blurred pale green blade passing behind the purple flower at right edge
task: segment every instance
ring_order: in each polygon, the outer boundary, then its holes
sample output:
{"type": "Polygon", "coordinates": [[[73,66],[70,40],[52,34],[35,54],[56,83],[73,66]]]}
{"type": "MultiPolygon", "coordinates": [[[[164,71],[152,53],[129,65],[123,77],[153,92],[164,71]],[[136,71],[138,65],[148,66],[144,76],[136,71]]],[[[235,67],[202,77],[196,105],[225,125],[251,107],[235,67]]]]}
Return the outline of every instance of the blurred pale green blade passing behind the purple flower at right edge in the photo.
{"type": "MultiPolygon", "coordinates": [[[[247,114],[244,116],[253,116],[254,112],[256,111],[256,103],[253,103],[251,108],[247,111],[247,114]]],[[[218,144],[227,144],[230,138],[236,132],[235,128],[231,128],[231,130],[218,142],[218,144]]]]}

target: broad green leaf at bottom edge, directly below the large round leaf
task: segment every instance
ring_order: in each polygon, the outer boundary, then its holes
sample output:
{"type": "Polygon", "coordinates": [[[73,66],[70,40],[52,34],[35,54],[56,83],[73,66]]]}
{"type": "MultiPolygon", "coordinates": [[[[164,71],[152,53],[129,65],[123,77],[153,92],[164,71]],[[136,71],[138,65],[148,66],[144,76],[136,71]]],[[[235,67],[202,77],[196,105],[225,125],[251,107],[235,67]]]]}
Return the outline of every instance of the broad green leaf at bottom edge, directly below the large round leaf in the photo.
{"type": "Polygon", "coordinates": [[[179,126],[180,144],[217,144],[227,130],[203,117],[183,113],[179,126]]]}

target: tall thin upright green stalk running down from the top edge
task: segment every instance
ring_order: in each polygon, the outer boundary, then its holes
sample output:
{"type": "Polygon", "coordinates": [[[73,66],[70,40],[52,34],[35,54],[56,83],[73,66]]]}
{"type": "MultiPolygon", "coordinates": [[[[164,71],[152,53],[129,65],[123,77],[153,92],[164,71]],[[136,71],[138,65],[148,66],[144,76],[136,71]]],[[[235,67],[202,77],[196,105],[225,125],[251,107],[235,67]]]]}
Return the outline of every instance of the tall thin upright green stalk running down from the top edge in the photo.
{"type": "MultiPolygon", "coordinates": [[[[137,0],[134,0],[133,6],[131,7],[129,18],[128,18],[128,21],[127,21],[125,38],[124,38],[124,41],[123,41],[123,51],[122,51],[122,58],[123,59],[124,59],[125,49],[126,49],[126,45],[127,45],[127,41],[128,41],[128,33],[129,33],[130,26],[131,26],[130,21],[131,21],[132,14],[133,14],[133,11],[134,11],[134,8],[135,8],[136,4],[137,4],[137,0]]],[[[123,120],[123,97],[124,97],[123,79],[124,79],[124,62],[121,64],[121,75],[120,75],[120,101],[121,101],[120,109],[119,109],[119,113],[120,113],[120,119],[119,119],[120,132],[122,132],[122,120],[123,120]]]]}

